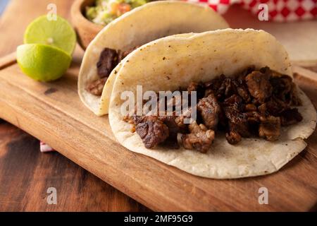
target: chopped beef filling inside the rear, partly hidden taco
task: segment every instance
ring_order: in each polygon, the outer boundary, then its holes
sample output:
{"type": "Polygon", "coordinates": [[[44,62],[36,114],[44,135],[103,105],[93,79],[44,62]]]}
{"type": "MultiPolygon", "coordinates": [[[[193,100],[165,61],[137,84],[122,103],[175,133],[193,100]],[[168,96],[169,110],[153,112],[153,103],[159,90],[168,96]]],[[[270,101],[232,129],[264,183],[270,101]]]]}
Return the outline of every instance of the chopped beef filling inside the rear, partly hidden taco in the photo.
{"type": "Polygon", "coordinates": [[[110,76],[111,71],[120,63],[121,60],[127,57],[128,54],[136,48],[137,47],[128,51],[104,48],[100,54],[99,61],[97,62],[97,74],[99,78],[87,83],[85,90],[92,95],[101,96],[104,84],[106,83],[108,76],[110,76]]]}

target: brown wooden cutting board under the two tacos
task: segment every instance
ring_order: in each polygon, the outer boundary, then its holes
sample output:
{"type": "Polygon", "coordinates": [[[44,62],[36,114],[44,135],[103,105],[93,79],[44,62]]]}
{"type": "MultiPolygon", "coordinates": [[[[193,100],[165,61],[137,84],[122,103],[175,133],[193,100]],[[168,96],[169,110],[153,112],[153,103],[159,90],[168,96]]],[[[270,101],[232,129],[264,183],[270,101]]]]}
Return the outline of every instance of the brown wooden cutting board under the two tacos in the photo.
{"type": "MultiPolygon", "coordinates": [[[[38,83],[23,75],[15,55],[0,59],[0,117],[48,143],[73,162],[153,210],[316,210],[317,133],[279,172],[247,179],[196,177],[116,142],[107,117],[96,117],[77,95],[82,52],[66,76],[38,83]],[[259,189],[268,189],[260,205],[259,189]]],[[[297,83],[317,106],[317,74],[295,68],[297,83]]]]}

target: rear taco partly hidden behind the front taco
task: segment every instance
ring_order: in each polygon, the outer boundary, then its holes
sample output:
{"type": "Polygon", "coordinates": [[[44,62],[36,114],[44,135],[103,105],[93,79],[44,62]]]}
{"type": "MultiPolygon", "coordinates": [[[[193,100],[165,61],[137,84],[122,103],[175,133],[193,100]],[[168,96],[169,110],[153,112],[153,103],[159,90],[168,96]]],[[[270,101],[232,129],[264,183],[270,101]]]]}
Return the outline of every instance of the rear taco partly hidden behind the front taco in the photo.
{"type": "Polygon", "coordinates": [[[87,47],[78,78],[80,99],[95,114],[107,114],[120,61],[130,52],[160,37],[220,28],[228,24],[211,8],[182,1],[154,1],[123,14],[87,47]]]}

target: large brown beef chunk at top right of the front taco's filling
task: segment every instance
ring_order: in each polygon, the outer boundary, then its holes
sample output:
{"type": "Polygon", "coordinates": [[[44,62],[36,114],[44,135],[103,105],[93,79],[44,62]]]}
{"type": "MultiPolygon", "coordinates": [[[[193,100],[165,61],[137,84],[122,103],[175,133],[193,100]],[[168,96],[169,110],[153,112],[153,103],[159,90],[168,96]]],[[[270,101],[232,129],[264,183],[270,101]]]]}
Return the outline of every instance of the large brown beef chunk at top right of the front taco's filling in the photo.
{"type": "Polygon", "coordinates": [[[270,83],[270,77],[267,74],[253,71],[247,75],[245,80],[247,81],[249,93],[260,104],[265,102],[268,97],[271,97],[273,89],[270,83]]]}

